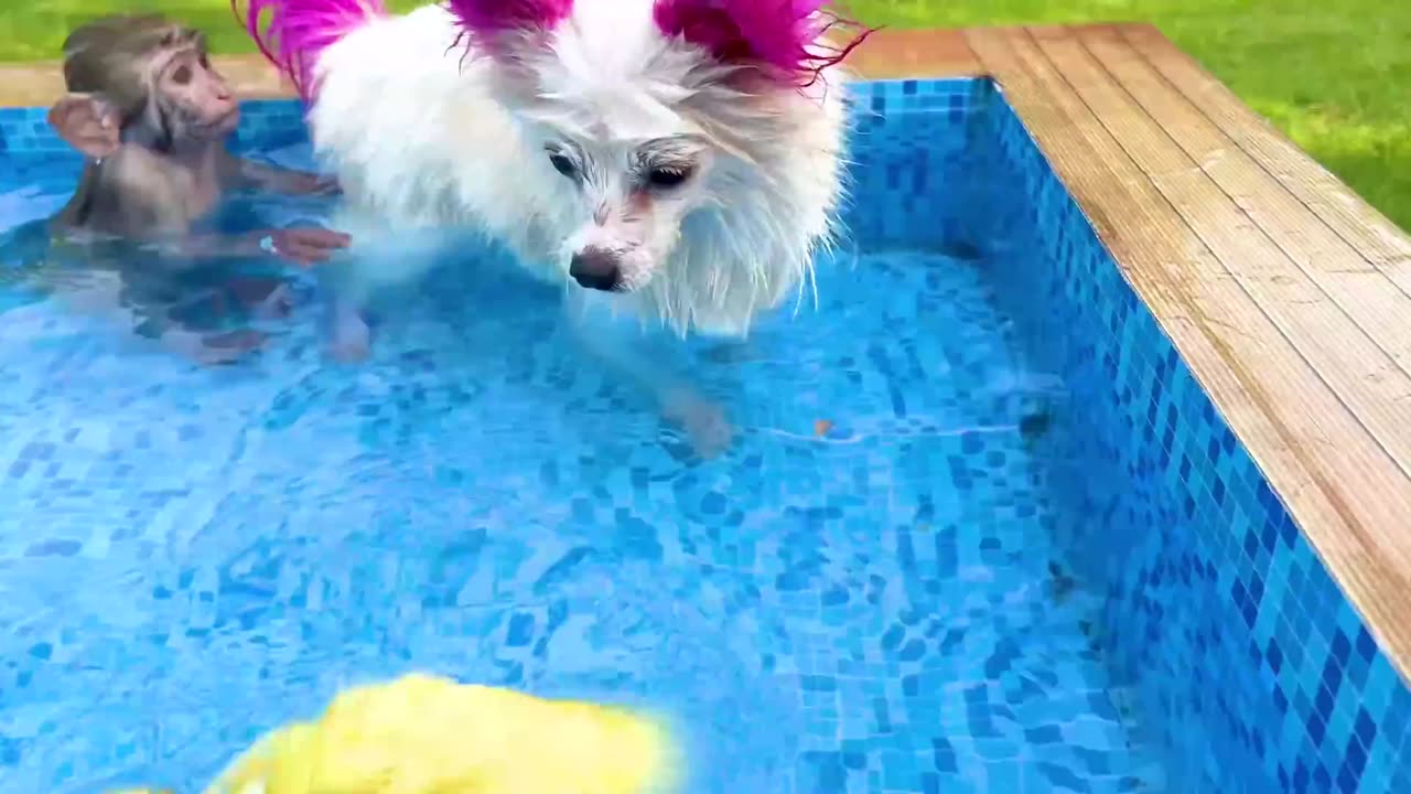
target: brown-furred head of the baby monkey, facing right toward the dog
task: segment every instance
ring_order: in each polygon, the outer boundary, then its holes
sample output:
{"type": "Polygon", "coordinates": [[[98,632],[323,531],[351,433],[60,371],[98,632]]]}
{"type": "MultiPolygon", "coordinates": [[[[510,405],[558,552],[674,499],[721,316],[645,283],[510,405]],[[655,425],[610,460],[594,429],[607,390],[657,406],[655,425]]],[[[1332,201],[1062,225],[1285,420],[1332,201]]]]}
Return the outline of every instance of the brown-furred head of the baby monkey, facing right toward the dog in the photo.
{"type": "Polygon", "coordinates": [[[63,42],[63,81],[113,106],[123,140],[171,151],[223,140],[240,120],[200,31],[155,14],[87,23],[63,42]]]}

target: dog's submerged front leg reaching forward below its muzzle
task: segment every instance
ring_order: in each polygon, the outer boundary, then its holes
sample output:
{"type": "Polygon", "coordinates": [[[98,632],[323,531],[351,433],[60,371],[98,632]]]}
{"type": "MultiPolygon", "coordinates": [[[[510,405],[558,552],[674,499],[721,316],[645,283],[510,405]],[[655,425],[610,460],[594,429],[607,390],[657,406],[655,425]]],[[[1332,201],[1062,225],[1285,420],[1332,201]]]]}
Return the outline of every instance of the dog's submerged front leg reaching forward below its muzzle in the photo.
{"type": "Polygon", "coordinates": [[[729,446],[734,428],[724,408],[672,374],[636,319],[612,316],[604,297],[584,290],[570,288],[563,305],[573,338],[612,372],[645,389],[662,415],[682,425],[698,455],[713,458],[729,446]]]}

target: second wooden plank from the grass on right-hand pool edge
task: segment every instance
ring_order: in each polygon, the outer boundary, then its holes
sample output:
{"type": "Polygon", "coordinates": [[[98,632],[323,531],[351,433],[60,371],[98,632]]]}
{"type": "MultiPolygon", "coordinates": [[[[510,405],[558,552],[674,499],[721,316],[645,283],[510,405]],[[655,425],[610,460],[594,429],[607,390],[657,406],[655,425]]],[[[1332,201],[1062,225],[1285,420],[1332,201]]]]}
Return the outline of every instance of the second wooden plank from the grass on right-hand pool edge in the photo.
{"type": "MultiPolygon", "coordinates": [[[[1298,201],[1110,25],[1075,30],[1088,52],[1230,201],[1403,372],[1411,370],[1411,295],[1298,201]]],[[[1240,267],[1242,263],[1226,263],[1240,267]]]]}

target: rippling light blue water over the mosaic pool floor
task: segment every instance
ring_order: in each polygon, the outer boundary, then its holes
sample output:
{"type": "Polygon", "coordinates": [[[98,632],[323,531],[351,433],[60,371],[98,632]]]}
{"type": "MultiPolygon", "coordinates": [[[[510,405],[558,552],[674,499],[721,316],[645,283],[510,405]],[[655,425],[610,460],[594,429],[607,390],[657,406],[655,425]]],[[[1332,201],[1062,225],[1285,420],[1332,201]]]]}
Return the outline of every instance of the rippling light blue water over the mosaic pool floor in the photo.
{"type": "Polygon", "coordinates": [[[312,297],[217,370],[6,311],[7,790],[198,791],[408,670],[665,709],[690,791],[1160,788],[1047,531],[1062,381],[992,288],[820,261],[817,309],[689,350],[739,431],[706,462],[512,277],[435,274],[361,367],[312,297]]]}

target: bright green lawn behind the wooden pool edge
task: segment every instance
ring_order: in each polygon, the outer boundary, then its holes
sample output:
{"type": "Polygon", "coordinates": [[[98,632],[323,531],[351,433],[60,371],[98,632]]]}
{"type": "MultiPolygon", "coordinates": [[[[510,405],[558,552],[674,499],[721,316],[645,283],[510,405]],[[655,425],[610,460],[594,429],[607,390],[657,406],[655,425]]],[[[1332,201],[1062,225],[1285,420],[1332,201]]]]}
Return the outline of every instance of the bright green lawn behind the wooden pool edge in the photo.
{"type": "MultiPolygon", "coordinates": [[[[419,0],[394,0],[406,8],[419,0]]],[[[162,10],[248,51],[227,0],[28,0],[0,10],[0,59],[48,59],[76,23],[162,10]],[[24,6],[24,7],[20,7],[24,6]]],[[[1371,205],[1411,229],[1411,3],[1387,0],[851,0],[895,27],[1144,20],[1371,205]]]]}

